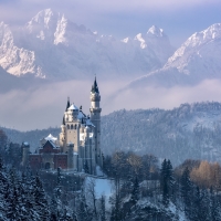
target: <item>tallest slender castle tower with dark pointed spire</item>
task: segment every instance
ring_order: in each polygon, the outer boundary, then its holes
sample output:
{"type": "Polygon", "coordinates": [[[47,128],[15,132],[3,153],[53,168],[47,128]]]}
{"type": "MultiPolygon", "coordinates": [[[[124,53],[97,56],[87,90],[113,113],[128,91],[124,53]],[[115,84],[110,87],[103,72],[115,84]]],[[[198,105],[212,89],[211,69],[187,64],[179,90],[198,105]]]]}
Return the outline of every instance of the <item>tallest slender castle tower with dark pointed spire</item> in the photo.
{"type": "Polygon", "coordinates": [[[99,107],[101,95],[97,86],[96,77],[91,91],[91,120],[94,124],[94,138],[95,138],[95,161],[102,167],[102,152],[101,152],[101,112],[99,107]]]}

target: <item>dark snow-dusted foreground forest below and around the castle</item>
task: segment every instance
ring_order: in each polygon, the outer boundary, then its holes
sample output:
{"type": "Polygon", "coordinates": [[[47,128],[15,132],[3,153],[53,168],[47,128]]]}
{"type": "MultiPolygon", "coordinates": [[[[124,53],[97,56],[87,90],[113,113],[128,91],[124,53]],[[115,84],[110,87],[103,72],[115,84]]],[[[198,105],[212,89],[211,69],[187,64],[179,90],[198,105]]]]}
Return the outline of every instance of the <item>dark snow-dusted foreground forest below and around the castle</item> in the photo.
{"type": "Polygon", "coordinates": [[[91,175],[22,168],[21,146],[0,130],[0,219],[145,221],[221,220],[221,166],[207,160],[169,159],[133,151],[104,156],[112,196],[97,197],[91,175]]]}

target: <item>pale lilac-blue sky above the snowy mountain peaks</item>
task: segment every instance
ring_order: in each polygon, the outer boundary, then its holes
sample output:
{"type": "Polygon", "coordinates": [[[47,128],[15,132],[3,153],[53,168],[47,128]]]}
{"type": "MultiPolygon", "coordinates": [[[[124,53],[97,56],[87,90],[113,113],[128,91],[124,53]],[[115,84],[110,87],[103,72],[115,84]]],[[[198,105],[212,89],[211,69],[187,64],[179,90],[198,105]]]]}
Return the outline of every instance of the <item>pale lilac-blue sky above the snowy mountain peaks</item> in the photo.
{"type": "Polygon", "coordinates": [[[46,8],[117,39],[145,33],[155,24],[176,48],[192,33],[221,21],[220,0],[0,0],[0,21],[24,24],[46,8]]]}

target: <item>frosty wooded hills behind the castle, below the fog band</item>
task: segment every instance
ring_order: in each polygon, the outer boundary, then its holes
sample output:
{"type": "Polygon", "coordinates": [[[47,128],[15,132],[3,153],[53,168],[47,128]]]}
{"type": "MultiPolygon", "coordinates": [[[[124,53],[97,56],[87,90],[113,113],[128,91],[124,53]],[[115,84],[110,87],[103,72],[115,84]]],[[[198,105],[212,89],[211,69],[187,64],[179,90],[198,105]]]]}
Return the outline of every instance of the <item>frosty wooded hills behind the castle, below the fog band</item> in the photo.
{"type": "MultiPolygon", "coordinates": [[[[2,128],[13,143],[29,141],[32,151],[49,134],[60,128],[21,133],[2,128]]],[[[118,110],[102,117],[102,148],[105,155],[133,150],[167,158],[173,165],[186,159],[221,162],[221,103],[182,104],[171,110],[118,110]]]]}

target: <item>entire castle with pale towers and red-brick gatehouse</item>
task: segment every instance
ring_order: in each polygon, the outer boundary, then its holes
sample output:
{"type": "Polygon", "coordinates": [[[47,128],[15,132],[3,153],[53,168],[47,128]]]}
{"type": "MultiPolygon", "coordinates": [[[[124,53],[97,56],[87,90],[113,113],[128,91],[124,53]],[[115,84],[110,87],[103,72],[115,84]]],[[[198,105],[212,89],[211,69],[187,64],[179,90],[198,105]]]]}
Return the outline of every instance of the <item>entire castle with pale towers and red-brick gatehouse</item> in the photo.
{"type": "Polygon", "coordinates": [[[96,175],[102,167],[101,150],[101,95],[96,77],[91,90],[91,116],[86,116],[67,98],[59,139],[51,134],[41,139],[34,154],[28,143],[22,144],[22,165],[30,164],[33,169],[70,169],[96,175]]]}

